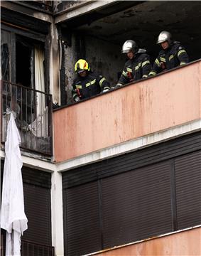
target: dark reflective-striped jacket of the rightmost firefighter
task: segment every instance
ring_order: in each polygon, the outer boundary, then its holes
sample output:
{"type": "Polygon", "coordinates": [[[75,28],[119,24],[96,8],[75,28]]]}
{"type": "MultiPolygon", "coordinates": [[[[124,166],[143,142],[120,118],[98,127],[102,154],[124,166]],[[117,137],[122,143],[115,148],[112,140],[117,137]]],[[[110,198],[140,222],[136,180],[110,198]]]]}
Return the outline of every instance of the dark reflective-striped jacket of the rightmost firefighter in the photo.
{"type": "Polygon", "coordinates": [[[180,45],[180,42],[175,41],[168,49],[159,52],[148,76],[156,75],[163,70],[170,70],[171,68],[175,68],[178,65],[184,65],[188,62],[188,54],[186,53],[185,48],[180,45]]]}

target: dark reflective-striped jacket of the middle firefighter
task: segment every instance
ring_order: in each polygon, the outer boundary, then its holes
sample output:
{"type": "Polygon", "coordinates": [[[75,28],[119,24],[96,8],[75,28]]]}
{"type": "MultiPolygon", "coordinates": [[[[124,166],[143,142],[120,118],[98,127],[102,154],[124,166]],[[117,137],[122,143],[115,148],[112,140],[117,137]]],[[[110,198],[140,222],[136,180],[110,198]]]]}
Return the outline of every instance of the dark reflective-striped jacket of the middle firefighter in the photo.
{"type": "Polygon", "coordinates": [[[128,82],[148,77],[148,73],[151,70],[150,57],[146,54],[146,50],[143,51],[144,53],[136,53],[136,56],[132,60],[126,61],[124,70],[116,86],[125,85],[128,82]]]}

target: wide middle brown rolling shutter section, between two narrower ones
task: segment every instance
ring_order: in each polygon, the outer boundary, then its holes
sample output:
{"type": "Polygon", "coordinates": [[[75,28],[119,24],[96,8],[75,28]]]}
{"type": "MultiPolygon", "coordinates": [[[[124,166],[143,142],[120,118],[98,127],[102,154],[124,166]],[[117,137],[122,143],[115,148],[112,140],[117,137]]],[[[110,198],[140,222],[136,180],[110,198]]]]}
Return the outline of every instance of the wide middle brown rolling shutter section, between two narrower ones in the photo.
{"type": "Polygon", "coordinates": [[[170,162],[102,180],[104,248],[172,230],[170,162]]]}

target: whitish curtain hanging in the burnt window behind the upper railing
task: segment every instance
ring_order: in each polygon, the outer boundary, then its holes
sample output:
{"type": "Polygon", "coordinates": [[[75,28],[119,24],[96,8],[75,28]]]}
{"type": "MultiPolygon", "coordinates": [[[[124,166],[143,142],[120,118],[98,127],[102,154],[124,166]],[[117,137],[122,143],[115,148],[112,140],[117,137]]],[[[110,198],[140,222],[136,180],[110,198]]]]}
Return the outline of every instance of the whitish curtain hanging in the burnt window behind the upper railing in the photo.
{"type": "MultiPolygon", "coordinates": [[[[36,90],[45,92],[44,50],[35,47],[35,82],[36,90]]],[[[36,137],[48,137],[48,107],[45,106],[45,95],[36,92],[36,119],[29,124],[29,129],[36,137]]]]}

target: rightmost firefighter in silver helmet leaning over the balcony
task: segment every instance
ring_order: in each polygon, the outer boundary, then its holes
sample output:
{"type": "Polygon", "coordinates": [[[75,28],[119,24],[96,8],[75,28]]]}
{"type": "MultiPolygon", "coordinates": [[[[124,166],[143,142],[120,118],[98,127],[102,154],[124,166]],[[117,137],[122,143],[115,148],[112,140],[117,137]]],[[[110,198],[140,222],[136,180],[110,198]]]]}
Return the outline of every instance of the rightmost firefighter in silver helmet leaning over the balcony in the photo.
{"type": "Polygon", "coordinates": [[[178,65],[185,65],[189,62],[188,54],[180,42],[173,41],[170,32],[162,31],[158,36],[157,44],[162,50],[153,63],[153,67],[148,76],[161,73],[163,70],[170,70],[178,65]]]}

